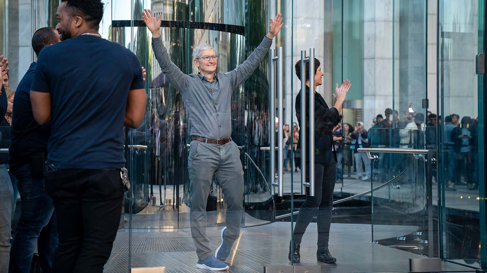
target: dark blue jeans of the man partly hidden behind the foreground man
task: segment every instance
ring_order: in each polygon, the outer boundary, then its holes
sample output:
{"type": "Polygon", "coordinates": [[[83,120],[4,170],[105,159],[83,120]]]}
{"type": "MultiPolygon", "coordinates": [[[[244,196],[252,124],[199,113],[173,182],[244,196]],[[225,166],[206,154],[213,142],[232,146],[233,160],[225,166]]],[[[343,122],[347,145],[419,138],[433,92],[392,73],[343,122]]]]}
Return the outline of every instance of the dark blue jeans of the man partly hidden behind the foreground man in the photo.
{"type": "Polygon", "coordinates": [[[36,247],[43,273],[50,273],[57,249],[56,215],[46,194],[43,177],[32,177],[30,165],[13,171],[18,180],[21,207],[10,252],[10,272],[29,273],[36,247]]]}

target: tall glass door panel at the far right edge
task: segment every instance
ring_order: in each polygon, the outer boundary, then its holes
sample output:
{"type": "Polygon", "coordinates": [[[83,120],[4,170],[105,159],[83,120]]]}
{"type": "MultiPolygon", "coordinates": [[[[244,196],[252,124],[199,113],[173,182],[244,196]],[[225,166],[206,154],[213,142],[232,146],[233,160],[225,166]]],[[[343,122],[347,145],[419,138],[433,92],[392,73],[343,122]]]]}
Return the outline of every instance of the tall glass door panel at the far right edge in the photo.
{"type": "Polygon", "coordinates": [[[485,1],[438,5],[440,252],[486,269],[485,1]]]}

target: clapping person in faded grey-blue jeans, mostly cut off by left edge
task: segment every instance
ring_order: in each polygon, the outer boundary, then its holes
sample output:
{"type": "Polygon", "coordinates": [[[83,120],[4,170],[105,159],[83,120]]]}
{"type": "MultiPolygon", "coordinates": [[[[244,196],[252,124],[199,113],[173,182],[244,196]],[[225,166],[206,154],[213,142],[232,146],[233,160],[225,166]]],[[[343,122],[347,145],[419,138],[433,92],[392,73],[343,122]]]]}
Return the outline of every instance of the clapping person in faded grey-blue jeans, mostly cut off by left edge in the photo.
{"type": "MultiPolygon", "coordinates": [[[[7,66],[7,59],[0,55],[0,77],[7,74],[7,66]]],[[[0,117],[3,117],[7,111],[7,95],[5,87],[0,86],[0,117]]],[[[7,168],[3,163],[0,164],[0,200],[0,273],[7,273],[10,256],[10,229],[12,214],[14,213],[14,189],[7,168]]]]}

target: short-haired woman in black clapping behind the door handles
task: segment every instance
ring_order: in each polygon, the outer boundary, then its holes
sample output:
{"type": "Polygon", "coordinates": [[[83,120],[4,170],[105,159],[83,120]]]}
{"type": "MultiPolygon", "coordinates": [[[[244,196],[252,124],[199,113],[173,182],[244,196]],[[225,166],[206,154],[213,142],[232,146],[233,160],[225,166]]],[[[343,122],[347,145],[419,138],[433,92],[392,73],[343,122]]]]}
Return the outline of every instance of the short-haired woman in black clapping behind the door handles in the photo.
{"type": "MultiPolygon", "coordinates": [[[[300,123],[300,132],[306,132],[306,136],[309,134],[315,134],[315,196],[310,196],[309,188],[306,188],[306,201],[301,205],[298,219],[293,231],[293,239],[290,241],[288,258],[292,262],[300,261],[300,243],[301,239],[306,231],[311,220],[318,212],[318,251],[316,253],[317,260],[325,263],[335,263],[337,261],[330,254],[328,249],[328,241],[330,237],[330,224],[332,218],[332,204],[333,204],[333,190],[337,180],[337,154],[335,152],[333,143],[333,128],[341,121],[341,110],[343,102],[347,92],[352,85],[350,81],[343,81],[342,85],[336,86],[336,95],[333,94],[335,99],[335,105],[329,108],[325,100],[319,93],[316,92],[316,87],[322,85],[321,78],[323,72],[319,67],[320,63],[318,59],[314,60],[315,65],[315,86],[310,85],[310,63],[305,64],[306,78],[301,79],[301,61],[298,61],[295,65],[296,75],[301,81],[306,82],[305,90],[300,90],[296,96],[296,117],[300,123]],[[311,90],[311,88],[313,88],[311,90]],[[309,101],[310,96],[314,96],[315,101],[315,132],[310,132],[309,127],[309,101]],[[306,100],[306,111],[301,111],[301,100],[306,100]],[[301,115],[305,115],[306,124],[301,124],[301,115]]],[[[298,141],[298,149],[302,149],[303,137],[300,136],[298,141]]],[[[306,151],[310,150],[309,141],[306,141],[306,151]]],[[[309,167],[309,152],[306,153],[306,179],[309,181],[310,167],[309,167]]],[[[296,162],[300,165],[300,162],[296,162]]],[[[299,166],[302,170],[302,167],[299,166]]]]}

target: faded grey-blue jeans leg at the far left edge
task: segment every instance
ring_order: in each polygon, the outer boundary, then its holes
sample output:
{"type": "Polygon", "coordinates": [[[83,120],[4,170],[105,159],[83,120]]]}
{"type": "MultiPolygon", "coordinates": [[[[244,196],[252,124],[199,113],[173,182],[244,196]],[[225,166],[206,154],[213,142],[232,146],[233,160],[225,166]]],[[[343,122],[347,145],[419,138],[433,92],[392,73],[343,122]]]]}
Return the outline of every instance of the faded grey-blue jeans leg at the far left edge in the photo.
{"type": "Polygon", "coordinates": [[[14,189],[5,165],[0,165],[0,273],[8,272],[14,189]]]}

